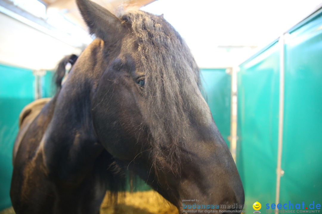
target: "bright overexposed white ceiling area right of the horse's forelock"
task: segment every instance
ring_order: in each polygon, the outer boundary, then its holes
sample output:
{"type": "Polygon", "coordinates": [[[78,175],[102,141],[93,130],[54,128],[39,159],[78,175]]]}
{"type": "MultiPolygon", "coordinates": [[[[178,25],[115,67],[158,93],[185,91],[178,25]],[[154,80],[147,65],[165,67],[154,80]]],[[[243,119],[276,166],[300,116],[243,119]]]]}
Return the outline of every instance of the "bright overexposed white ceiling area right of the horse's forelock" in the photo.
{"type": "Polygon", "coordinates": [[[200,67],[229,67],[239,65],[277,39],[321,3],[322,0],[158,0],[143,10],[164,13],[186,40],[200,67]]]}

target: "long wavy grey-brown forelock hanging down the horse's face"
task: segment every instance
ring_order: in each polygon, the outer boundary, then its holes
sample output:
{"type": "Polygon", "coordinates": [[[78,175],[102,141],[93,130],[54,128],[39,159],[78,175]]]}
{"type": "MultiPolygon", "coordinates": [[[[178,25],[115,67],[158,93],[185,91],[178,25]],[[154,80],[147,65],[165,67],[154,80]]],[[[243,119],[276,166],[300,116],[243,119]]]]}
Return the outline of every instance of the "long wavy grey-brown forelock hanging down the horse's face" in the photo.
{"type": "Polygon", "coordinates": [[[149,126],[151,159],[180,176],[180,157],[191,109],[184,100],[200,93],[199,68],[179,33],[163,18],[137,9],[120,17],[137,38],[137,69],[145,72],[142,114],[149,126]]]}

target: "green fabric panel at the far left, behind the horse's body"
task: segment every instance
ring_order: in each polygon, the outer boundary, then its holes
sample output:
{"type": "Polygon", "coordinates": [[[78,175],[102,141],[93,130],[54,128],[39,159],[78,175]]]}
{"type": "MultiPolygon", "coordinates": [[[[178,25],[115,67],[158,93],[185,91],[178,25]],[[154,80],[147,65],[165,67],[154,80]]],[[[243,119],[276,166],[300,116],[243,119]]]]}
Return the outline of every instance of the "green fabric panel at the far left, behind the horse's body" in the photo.
{"type": "Polygon", "coordinates": [[[0,210],[11,206],[9,191],[12,150],[18,133],[18,118],[33,101],[34,76],[31,70],[0,65],[0,210]]]}

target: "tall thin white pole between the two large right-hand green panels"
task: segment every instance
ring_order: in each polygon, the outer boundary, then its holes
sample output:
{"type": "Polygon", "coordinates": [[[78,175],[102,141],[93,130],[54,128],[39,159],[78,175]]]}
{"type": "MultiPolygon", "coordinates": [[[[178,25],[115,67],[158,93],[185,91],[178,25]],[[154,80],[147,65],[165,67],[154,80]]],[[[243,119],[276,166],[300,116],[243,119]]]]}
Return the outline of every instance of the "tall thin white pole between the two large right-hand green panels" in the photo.
{"type": "Polygon", "coordinates": [[[281,168],[282,163],[282,148],[283,148],[283,123],[284,123],[284,46],[285,37],[284,34],[279,37],[279,132],[278,132],[278,151],[277,151],[277,167],[276,167],[276,196],[275,204],[279,203],[280,193],[280,180],[284,171],[281,168]]]}

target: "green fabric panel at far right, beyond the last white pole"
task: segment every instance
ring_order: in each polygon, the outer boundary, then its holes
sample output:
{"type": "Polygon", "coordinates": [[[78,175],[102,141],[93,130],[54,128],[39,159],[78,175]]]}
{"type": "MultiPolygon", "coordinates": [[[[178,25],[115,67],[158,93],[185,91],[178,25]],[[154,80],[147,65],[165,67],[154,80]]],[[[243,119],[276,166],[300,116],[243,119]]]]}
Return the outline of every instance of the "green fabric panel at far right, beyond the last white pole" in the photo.
{"type": "Polygon", "coordinates": [[[321,26],[322,13],[292,32],[285,46],[280,202],[322,203],[321,26]]]}

